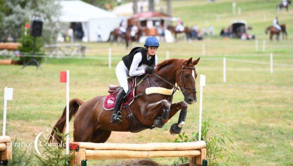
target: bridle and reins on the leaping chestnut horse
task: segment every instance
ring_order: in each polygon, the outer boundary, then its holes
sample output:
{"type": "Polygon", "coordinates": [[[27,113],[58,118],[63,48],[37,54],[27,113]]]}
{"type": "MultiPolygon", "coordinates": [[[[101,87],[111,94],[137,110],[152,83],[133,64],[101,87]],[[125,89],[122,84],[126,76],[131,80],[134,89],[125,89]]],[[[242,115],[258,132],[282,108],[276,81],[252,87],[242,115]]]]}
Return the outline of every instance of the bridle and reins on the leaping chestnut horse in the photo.
{"type": "MultiPolygon", "coordinates": [[[[177,79],[177,77],[180,75],[181,73],[181,82],[182,82],[182,85],[183,87],[180,87],[180,89],[178,88],[178,85],[176,86],[175,84],[173,83],[170,83],[168,82],[167,80],[165,80],[164,78],[162,78],[161,76],[157,75],[156,73],[153,73],[155,76],[157,76],[158,78],[160,78],[161,80],[165,81],[166,83],[168,83],[169,85],[171,85],[174,89],[173,89],[173,92],[172,92],[172,96],[174,95],[174,93],[176,92],[176,90],[181,90],[181,92],[183,93],[183,96],[187,96],[189,95],[190,93],[193,93],[195,92],[196,93],[196,88],[195,87],[185,87],[185,84],[184,84],[184,76],[183,76],[183,70],[184,69],[188,69],[188,70],[195,70],[195,67],[184,67],[184,65],[182,65],[182,68],[180,70],[180,72],[177,74],[177,76],[175,77],[175,80],[177,79]],[[186,93],[186,89],[191,89],[192,91],[189,92],[189,93],[186,93]]],[[[195,71],[194,71],[195,73],[195,71]]],[[[176,82],[176,81],[175,81],[176,82]]]]}

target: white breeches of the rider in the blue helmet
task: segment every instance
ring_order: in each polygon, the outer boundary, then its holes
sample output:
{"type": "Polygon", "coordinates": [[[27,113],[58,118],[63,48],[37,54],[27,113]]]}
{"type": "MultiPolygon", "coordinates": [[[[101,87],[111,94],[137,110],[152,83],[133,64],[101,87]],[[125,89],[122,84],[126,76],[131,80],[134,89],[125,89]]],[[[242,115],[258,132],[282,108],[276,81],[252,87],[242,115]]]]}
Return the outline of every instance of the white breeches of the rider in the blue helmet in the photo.
{"type": "Polygon", "coordinates": [[[125,66],[123,61],[120,61],[116,66],[116,77],[121,87],[123,87],[125,93],[128,92],[128,83],[127,83],[127,75],[129,73],[127,67],[125,66]]]}

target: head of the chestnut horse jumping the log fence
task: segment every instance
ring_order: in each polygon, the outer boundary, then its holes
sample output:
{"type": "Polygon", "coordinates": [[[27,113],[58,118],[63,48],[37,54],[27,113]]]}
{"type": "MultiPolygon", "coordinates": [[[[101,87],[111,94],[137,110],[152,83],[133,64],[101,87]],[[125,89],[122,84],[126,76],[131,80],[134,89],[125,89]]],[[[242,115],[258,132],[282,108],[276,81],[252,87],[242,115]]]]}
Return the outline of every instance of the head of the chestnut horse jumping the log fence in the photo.
{"type": "Polygon", "coordinates": [[[194,65],[199,62],[199,59],[200,58],[192,61],[192,58],[190,58],[188,61],[184,62],[176,72],[177,75],[175,81],[180,87],[180,90],[184,95],[184,101],[187,104],[196,102],[195,79],[197,74],[194,65]]]}

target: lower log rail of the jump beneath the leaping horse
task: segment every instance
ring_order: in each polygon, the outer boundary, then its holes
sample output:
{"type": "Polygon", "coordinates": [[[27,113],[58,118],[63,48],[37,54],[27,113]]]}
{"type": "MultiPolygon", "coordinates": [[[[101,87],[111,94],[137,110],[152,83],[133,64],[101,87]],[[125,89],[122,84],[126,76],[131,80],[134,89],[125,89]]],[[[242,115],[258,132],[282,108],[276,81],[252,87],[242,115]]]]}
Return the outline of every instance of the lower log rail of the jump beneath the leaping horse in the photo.
{"type": "Polygon", "coordinates": [[[199,150],[85,150],[85,159],[135,159],[151,157],[192,157],[199,156],[199,150]]]}

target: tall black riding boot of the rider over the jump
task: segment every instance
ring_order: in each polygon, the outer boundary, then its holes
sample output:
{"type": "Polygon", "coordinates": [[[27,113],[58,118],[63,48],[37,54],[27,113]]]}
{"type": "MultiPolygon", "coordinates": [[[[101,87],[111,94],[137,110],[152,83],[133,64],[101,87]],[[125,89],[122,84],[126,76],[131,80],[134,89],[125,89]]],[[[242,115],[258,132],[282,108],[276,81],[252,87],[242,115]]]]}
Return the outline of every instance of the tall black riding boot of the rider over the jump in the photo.
{"type": "Polygon", "coordinates": [[[110,123],[111,124],[114,124],[114,123],[121,123],[122,120],[122,113],[120,112],[120,107],[121,107],[121,104],[122,104],[122,101],[123,101],[123,97],[126,95],[125,91],[123,88],[120,88],[120,91],[119,93],[117,94],[117,97],[116,97],[116,101],[115,101],[115,105],[114,105],[114,110],[113,110],[113,114],[112,114],[112,117],[111,117],[111,121],[110,123]]]}

